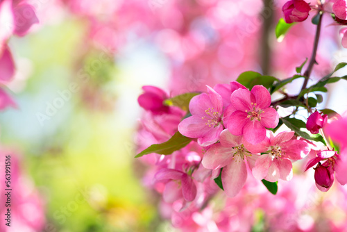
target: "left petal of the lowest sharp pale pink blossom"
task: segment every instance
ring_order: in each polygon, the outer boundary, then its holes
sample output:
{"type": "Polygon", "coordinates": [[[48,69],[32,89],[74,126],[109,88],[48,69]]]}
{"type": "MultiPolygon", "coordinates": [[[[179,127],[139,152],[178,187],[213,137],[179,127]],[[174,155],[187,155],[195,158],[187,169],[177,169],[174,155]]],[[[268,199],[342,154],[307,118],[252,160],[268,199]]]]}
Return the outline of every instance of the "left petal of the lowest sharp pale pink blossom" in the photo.
{"type": "Polygon", "coordinates": [[[207,169],[219,169],[231,162],[232,155],[230,147],[223,147],[220,143],[217,143],[206,151],[201,163],[207,169]]]}

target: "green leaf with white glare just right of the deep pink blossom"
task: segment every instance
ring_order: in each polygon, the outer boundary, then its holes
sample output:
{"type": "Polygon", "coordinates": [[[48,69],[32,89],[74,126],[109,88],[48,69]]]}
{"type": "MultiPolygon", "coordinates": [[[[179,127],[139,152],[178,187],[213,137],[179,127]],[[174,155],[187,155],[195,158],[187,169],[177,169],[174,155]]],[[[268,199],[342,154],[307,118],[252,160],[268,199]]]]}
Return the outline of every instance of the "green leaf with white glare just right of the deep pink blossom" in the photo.
{"type": "Polygon", "coordinates": [[[306,140],[312,140],[316,142],[323,142],[325,144],[325,141],[323,137],[319,134],[312,135],[310,132],[302,131],[301,129],[306,129],[305,122],[301,121],[300,119],[296,119],[294,117],[282,117],[283,123],[288,126],[291,131],[295,131],[295,133],[302,138],[305,138],[306,140]]]}

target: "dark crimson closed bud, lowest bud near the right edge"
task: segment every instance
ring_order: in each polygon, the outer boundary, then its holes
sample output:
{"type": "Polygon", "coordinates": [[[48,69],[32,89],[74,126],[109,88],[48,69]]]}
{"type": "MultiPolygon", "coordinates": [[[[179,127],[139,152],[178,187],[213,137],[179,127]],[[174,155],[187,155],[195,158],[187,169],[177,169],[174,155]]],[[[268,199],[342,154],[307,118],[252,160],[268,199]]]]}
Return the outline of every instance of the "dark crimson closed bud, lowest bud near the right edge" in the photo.
{"type": "Polygon", "coordinates": [[[332,169],[330,167],[325,167],[319,163],[315,168],[314,180],[319,190],[326,192],[334,183],[334,176],[332,175],[332,169]]]}

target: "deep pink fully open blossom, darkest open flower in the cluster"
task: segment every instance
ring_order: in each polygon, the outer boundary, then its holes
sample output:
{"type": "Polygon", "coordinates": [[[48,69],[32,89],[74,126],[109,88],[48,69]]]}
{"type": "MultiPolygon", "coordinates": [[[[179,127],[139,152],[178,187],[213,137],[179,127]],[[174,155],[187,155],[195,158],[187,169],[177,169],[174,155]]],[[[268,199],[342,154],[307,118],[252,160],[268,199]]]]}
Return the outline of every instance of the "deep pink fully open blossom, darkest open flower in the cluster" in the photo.
{"type": "Polygon", "coordinates": [[[264,86],[235,90],[230,100],[227,128],[233,135],[244,135],[247,142],[257,144],[266,137],[266,128],[277,126],[278,113],[270,107],[270,93],[264,86]]]}

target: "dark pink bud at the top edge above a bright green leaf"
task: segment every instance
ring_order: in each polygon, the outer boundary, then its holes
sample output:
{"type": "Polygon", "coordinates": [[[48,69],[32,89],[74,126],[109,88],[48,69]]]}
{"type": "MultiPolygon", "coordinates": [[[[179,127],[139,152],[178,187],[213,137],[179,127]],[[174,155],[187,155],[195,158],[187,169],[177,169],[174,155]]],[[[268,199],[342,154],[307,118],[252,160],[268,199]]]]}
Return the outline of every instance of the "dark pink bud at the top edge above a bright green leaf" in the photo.
{"type": "Polygon", "coordinates": [[[310,5],[303,0],[287,1],[282,7],[282,16],[287,24],[303,22],[311,10],[310,5]]]}

